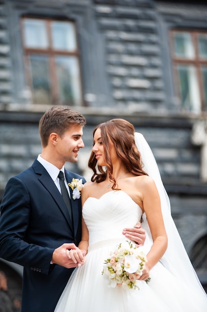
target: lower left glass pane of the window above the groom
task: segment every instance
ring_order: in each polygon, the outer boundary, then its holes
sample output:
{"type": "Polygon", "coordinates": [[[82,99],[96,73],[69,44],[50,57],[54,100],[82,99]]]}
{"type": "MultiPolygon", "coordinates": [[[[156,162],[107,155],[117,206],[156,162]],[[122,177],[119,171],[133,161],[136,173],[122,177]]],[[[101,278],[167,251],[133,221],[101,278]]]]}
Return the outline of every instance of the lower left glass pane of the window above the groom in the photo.
{"type": "Polygon", "coordinates": [[[48,57],[30,55],[33,102],[35,104],[52,104],[49,79],[48,57]]]}

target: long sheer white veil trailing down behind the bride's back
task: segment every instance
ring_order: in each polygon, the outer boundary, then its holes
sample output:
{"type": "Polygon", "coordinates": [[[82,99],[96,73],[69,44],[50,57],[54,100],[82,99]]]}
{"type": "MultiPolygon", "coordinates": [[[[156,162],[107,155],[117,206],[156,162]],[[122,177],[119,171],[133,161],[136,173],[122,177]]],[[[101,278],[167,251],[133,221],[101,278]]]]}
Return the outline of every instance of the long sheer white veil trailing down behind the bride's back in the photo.
{"type": "MultiPolygon", "coordinates": [[[[178,280],[181,279],[188,286],[191,285],[191,288],[196,295],[195,298],[207,301],[207,294],[198,279],[172,219],[169,197],[163,186],[160,172],[152,151],[140,133],[135,133],[135,143],[144,164],[143,170],[153,178],[160,195],[162,215],[168,236],[168,247],[160,262],[167,270],[176,276],[178,280]]],[[[146,219],[142,223],[142,227],[149,235],[151,235],[146,219]]]]}

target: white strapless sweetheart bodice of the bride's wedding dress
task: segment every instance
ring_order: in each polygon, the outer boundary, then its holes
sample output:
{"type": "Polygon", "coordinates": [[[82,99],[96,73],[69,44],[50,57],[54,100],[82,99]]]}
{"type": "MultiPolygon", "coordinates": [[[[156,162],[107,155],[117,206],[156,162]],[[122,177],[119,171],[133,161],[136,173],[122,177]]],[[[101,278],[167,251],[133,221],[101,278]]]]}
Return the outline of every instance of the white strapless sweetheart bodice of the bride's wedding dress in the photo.
{"type": "Polygon", "coordinates": [[[124,228],[140,221],[142,210],[124,191],[112,190],[100,198],[89,197],[82,209],[89,231],[89,244],[99,240],[123,239],[124,228]]]}

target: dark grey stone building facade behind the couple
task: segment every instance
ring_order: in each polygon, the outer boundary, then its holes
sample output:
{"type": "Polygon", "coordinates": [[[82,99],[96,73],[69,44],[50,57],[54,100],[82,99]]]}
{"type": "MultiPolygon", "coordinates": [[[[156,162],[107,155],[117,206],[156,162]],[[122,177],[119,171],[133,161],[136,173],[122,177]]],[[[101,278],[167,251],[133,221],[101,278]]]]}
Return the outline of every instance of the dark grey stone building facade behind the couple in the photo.
{"type": "Polygon", "coordinates": [[[68,168],[89,179],[93,127],[114,117],[132,122],[152,148],[173,218],[207,287],[206,1],[0,0],[0,199],[8,178],[41,152],[40,117],[51,105],[65,104],[34,100],[27,78],[29,50],[22,39],[25,18],[75,23],[82,95],[71,105],[87,125],[78,164],[68,168]],[[171,39],[176,31],[187,37],[202,34],[200,108],[197,102],[184,105],[185,90],[178,92],[175,70],[181,60],[172,55],[171,39]]]}

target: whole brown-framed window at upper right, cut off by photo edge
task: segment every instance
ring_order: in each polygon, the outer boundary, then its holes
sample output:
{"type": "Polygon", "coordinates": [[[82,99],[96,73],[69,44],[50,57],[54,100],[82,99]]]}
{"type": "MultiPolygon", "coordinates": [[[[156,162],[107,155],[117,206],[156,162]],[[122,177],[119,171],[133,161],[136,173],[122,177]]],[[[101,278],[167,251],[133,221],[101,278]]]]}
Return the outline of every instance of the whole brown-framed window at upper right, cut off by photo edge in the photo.
{"type": "Polygon", "coordinates": [[[171,30],[175,89],[184,110],[207,111],[207,32],[171,30]]]}

